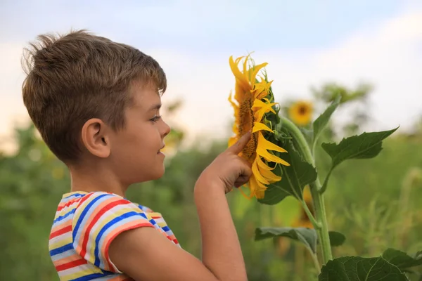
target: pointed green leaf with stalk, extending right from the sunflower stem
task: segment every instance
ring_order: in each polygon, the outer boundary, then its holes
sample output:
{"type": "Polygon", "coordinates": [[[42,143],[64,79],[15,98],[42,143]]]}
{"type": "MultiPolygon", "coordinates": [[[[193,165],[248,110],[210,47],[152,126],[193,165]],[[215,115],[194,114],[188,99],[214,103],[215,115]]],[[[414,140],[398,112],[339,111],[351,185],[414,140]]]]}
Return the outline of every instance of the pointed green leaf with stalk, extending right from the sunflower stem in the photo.
{"type": "Polygon", "coordinates": [[[378,155],[383,145],[383,140],[390,136],[398,129],[390,131],[379,131],[371,133],[362,133],[359,136],[351,136],[343,138],[339,144],[323,143],[322,148],[331,157],[331,169],[328,171],[324,184],[322,185],[321,192],[327,188],[328,178],[331,176],[333,169],[341,162],[347,159],[369,159],[378,155]]]}

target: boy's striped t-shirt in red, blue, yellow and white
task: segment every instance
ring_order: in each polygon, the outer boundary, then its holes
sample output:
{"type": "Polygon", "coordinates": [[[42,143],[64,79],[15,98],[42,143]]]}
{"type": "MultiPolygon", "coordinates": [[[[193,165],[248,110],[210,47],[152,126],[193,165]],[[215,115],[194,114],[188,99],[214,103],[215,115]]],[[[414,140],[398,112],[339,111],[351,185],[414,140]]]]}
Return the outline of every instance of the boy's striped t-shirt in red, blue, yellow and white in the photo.
{"type": "Polygon", "coordinates": [[[108,192],[70,192],[58,204],[49,250],[60,280],[132,280],[110,261],[108,247],[124,230],[156,228],[180,247],[161,214],[108,192]]]}

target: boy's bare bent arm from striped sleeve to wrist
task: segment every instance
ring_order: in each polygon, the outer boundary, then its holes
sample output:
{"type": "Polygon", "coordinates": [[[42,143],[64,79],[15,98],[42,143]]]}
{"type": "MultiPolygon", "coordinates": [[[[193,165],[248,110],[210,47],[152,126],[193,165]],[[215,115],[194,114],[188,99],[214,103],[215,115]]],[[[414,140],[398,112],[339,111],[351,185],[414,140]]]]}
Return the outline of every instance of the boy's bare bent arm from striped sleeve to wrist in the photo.
{"type": "Polygon", "coordinates": [[[154,228],[136,228],[118,235],[108,249],[111,261],[134,280],[247,280],[236,229],[221,189],[196,186],[203,262],[154,228]]]}

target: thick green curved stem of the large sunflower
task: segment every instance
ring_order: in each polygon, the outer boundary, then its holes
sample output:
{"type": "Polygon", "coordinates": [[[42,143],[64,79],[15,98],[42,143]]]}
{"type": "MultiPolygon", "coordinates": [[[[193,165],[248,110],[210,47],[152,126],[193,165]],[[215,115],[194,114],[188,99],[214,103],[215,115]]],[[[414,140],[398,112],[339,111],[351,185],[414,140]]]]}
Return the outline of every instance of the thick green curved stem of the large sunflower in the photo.
{"type": "MultiPolygon", "coordinates": [[[[293,122],[290,122],[290,120],[286,119],[285,117],[281,117],[281,125],[288,129],[288,131],[292,134],[293,141],[295,141],[295,144],[297,145],[301,155],[305,157],[305,161],[307,161],[309,164],[312,164],[312,166],[314,166],[316,169],[315,160],[312,156],[309,144],[307,143],[305,136],[303,136],[303,133],[300,131],[298,126],[293,124],[293,122]]],[[[321,189],[319,177],[316,177],[314,183],[309,184],[309,186],[314,203],[316,222],[321,226],[321,228],[316,228],[316,233],[321,244],[322,263],[325,265],[329,260],[333,259],[333,254],[331,252],[330,236],[328,235],[328,223],[324,195],[319,192],[321,189]]]]}

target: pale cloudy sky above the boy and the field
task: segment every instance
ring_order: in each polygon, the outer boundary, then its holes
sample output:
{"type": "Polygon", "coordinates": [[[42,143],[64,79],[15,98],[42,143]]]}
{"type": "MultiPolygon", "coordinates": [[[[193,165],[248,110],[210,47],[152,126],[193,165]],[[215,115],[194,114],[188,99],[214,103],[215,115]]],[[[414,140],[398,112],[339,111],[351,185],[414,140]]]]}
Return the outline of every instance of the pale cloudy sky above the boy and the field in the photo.
{"type": "Polygon", "coordinates": [[[38,34],[87,29],[130,44],[164,68],[170,124],[188,138],[225,138],[233,112],[229,57],[267,62],[276,99],[310,99],[335,81],[374,86],[372,130],[411,130],[422,115],[422,1],[0,1],[0,145],[27,122],[23,48],[38,34]]]}

